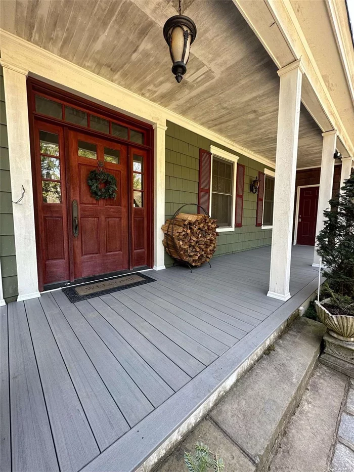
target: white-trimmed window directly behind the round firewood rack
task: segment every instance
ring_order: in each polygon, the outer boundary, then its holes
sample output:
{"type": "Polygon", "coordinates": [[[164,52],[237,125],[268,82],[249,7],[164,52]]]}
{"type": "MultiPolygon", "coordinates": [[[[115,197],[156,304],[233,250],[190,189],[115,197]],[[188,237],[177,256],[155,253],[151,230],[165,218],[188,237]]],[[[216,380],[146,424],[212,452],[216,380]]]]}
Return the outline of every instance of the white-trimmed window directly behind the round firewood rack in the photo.
{"type": "Polygon", "coordinates": [[[218,231],[230,231],[235,226],[236,171],[238,156],[210,146],[211,182],[210,216],[217,220],[218,231]]]}

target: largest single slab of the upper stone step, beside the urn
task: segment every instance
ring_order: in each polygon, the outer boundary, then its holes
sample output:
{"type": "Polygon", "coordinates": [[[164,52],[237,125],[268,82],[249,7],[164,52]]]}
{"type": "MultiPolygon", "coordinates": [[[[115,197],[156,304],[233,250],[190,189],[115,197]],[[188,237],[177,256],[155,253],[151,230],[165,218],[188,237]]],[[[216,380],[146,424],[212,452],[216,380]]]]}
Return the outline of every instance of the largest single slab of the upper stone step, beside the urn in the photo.
{"type": "Polygon", "coordinates": [[[316,321],[295,320],[275,350],[263,356],[210,413],[256,470],[267,465],[301,399],[324,331],[316,321]]]}

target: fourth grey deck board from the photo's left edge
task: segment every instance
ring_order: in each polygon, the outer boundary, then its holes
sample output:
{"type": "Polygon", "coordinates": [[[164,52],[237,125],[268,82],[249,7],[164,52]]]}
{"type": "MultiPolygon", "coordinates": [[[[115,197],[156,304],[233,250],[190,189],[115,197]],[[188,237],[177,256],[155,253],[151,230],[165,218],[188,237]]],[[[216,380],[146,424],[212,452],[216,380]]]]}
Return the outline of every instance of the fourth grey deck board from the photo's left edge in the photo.
{"type": "Polygon", "coordinates": [[[128,431],[129,425],[53,296],[42,295],[40,304],[102,451],[128,431]]]}

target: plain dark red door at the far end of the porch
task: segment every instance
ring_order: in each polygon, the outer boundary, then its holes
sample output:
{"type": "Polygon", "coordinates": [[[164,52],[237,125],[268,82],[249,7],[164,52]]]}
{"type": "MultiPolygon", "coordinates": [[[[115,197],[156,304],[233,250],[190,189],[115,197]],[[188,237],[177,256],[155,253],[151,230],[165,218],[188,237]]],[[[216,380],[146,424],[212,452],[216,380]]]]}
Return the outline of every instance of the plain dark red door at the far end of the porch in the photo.
{"type": "Polygon", "coordinates": [[[300,189],[297,244],[315,245],[318,198],[319,187],[300,189]]]}

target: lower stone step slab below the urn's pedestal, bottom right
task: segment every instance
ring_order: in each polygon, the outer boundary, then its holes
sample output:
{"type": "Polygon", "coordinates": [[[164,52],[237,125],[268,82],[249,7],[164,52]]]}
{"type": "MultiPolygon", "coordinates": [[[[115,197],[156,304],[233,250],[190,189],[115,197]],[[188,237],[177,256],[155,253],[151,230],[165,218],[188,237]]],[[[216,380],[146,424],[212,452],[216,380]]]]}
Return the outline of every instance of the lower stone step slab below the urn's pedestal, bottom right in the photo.
{"type": "Polygon", "coordinates": [[[330,470],[328,465],[346,384],[345,375],[318,364],[286,428],[270,472],[330,470]]]}

